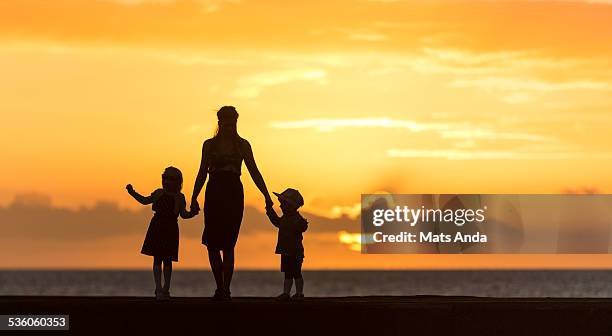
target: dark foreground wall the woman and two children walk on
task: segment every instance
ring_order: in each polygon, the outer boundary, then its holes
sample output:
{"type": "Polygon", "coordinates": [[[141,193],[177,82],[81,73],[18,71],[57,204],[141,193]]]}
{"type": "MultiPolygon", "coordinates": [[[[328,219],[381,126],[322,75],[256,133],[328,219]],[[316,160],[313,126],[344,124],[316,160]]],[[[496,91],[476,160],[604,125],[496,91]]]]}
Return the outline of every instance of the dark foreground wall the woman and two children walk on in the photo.
{"type": "Polygon", "coordinates": [[[612,299],[173,298],[160,303],[135,297],[9,296],[0,297],[0,314],[68,314],[73,335],[612,334],[612,299]]]}

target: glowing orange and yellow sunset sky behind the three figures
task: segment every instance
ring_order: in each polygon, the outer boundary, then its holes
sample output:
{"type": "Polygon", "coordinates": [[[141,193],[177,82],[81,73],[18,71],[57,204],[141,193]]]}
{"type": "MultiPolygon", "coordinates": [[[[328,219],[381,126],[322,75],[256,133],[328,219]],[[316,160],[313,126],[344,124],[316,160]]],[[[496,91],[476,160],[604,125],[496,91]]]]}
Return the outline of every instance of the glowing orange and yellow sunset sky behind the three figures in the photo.
{"type": "MultiPolygon", "coordinates": [[[[610,193],[610,36],[609,1],[2,1],[0,204],[35,192],[57,207],[137,209],[123,186],[149,192],[168,165],[189,196],[221,105],[238,108],[269,187],[299,188],[321,216],[352,214],[361,193],[381,190],[610,193]]],[[[263,204],[243,182],[247,203],[263,204]]],[[[117,266],[148,265],[132,238],[113,239],[138,258],[117,266]]],[[[336,235],[308,239],[314,255],[335,256],[313,268],[424,267],[360,256],[336,235]]],[[[183,246],[201,254],[197,240],[183,246]]],[[[67,262],[106,260],[88,253],[67,262]]],[[[491,258],[427,265],[502,260],[491,258]]],[[[564,258],[538,265],[612,266],[564,258]]],[[[17,260],[0,266],[70,266],[17,260]]]]}

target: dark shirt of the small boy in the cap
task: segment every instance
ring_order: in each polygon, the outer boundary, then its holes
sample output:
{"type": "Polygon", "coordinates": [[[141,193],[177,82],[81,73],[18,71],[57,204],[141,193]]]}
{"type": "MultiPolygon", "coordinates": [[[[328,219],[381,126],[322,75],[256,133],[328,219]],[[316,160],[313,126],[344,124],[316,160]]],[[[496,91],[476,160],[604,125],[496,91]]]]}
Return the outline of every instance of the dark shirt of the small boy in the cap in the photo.
{"type": "Polygon", "coordinates": [[[279,217],[276,211],[270,208],[266,211],[266,214],[272,224],[278,228],[275,253],[303,258],[302,233],[308,229],[308,221],[297,211],[279,217]]]}

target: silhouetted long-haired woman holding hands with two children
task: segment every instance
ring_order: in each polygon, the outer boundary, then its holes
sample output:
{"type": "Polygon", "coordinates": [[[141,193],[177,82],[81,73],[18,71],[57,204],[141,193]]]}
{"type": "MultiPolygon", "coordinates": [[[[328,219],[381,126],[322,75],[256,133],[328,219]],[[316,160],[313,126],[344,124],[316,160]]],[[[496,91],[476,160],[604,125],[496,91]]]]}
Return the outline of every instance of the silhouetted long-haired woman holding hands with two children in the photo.
{"type": "Polygon", "coordinates": [[[236,109],[223,106],[217,112],[217,118],[219,126],[215,136],[204,141],[202,146],[202,161],[193,187],[191,206],[199,207],[198,195],[206,182],[206,175],[210,175],[204,195],[202,244],[208,249],[210,267],[217,283],[213,298],[228,300],[234,273],[234,246],[244,210],[244,193],[240,182],[243,160],[253,182],[263,194],[266,206],[272,204],[272,198],[255,164],[251,145],[238,135],[236,109]]]}

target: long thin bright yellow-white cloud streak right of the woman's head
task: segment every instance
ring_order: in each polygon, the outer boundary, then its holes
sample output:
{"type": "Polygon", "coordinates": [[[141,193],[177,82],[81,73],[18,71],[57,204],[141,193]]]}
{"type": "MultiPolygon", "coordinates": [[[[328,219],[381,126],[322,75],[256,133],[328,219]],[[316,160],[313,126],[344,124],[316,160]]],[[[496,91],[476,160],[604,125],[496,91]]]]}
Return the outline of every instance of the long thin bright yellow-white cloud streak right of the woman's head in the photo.
{"type": "Polygon", "coordinates": [[[383,128],[404,129],[410,132],[435,132],[445,139],[488,139],[520,141],[556,141],[555,137],[525,132],[498,131],[492,128],[474,125],[467,122],[417,122],[414,120],[391,118],[353,118],[353,119],[306,119],[296,121],[273,121],[273,128],[279,129],[315,129],[331,132],[344,128],[383,128]]]}

